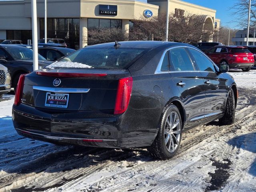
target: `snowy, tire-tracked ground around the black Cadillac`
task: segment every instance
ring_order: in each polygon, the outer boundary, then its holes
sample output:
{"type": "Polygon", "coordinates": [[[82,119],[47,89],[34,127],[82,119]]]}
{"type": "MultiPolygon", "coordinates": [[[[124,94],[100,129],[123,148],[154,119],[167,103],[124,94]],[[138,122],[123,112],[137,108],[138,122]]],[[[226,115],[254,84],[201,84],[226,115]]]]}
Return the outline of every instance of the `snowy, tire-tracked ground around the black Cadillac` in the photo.
{"type": "Polygon", "coordinates": [[[256,192],[256,70],[229,72],[238,84],[236,122],[183,133],[179,153],[57,146],[19,136],[14,96],[0,99],[0,192],[256,192]]]}

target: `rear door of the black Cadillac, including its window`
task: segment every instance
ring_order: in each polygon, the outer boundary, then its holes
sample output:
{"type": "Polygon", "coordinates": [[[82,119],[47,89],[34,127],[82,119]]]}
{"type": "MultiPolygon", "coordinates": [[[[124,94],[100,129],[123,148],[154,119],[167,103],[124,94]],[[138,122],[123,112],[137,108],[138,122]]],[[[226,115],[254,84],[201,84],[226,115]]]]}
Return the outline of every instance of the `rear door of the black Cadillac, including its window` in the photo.
{"type": "Polygon", "coordinates": [[[172,71],[170,74],[180,91],[188,124],[196,125],[204,116],[205,92],[202,75],[196,71],[186,48],[172,48],[169,54],[172,71]]]}

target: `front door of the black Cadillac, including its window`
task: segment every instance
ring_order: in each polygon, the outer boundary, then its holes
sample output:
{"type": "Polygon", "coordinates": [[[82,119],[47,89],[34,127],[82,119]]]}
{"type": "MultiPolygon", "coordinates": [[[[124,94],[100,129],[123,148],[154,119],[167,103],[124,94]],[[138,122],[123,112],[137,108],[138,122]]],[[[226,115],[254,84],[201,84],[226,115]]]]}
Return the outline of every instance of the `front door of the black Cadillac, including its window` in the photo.
{"type": "Polygon", "coordinates": [[[204,115],[206,117],[218,116],[222,113],[226,101],[226,79],[221,73],[216,72],[214,64],[203,53],[193,48],[188,48],[188,50],[204,79],[206,94],[204,115]]]}

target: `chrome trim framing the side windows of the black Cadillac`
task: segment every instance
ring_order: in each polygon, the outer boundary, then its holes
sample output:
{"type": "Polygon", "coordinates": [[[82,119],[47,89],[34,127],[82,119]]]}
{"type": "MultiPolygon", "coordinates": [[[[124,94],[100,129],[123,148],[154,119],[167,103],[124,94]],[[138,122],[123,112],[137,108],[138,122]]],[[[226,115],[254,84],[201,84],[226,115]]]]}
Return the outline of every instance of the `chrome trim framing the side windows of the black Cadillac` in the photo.
{"type": "MultiPolygon", "coordinates": [[[[206,71],[196,71],[196,70],[194,70],[194,71],[168,71],[168,72],[167,71],[161,71],[162,62],[164,60],[164,56],[165,56],[166,52],[171,50],[171,49],[174,49],[174,48],[191,48],[191,49],[197,50],[198,52],[204,54],[204,56],[206,56],[210,60],[210,62],[212,62],[212,64],[218,68],[218,66],[208,57],[208,55],[206,55],[204,52],[202,52],[198,48],[194,48],[194,47],[190,47],[190,46],[182,46],[181,45],[181,46],[173,46],[173,47],[170,47],[170,48],[164,50],[164,53],[162,54],[162,56],[160,58],[160,61],[158,62],[158,65],[157,65],[157,68],[156,68],[156,71],[155,71],[154,74],[159,74],[159,73],[160,74],[161,73],[175,73],[175,72],[206,72],[206,71]]],[[[191,58],[190,58],[190,60],[191,60],[191,58]]],[[[191,61],[191,62],[194,64],[193,61],[191,61]]],[[[210,71],[207,71],[207,72],[210,72],[210,71]]],[[[212,73],[215,73],[215,72],[212,72],[212,73]]]]}

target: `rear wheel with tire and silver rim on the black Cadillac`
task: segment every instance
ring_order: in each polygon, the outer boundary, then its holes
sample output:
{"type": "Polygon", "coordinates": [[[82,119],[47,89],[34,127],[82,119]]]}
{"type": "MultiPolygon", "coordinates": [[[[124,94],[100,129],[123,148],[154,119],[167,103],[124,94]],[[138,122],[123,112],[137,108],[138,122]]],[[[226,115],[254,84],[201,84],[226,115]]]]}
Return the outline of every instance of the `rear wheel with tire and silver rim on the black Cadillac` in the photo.
{"type": "Polygon", "coordinates": [[[172,158],[180,147],[181,135],[180,112],[175,105],[171,104],[162,115],[158,134],[148,150],[156,158],[172,158]]]}

